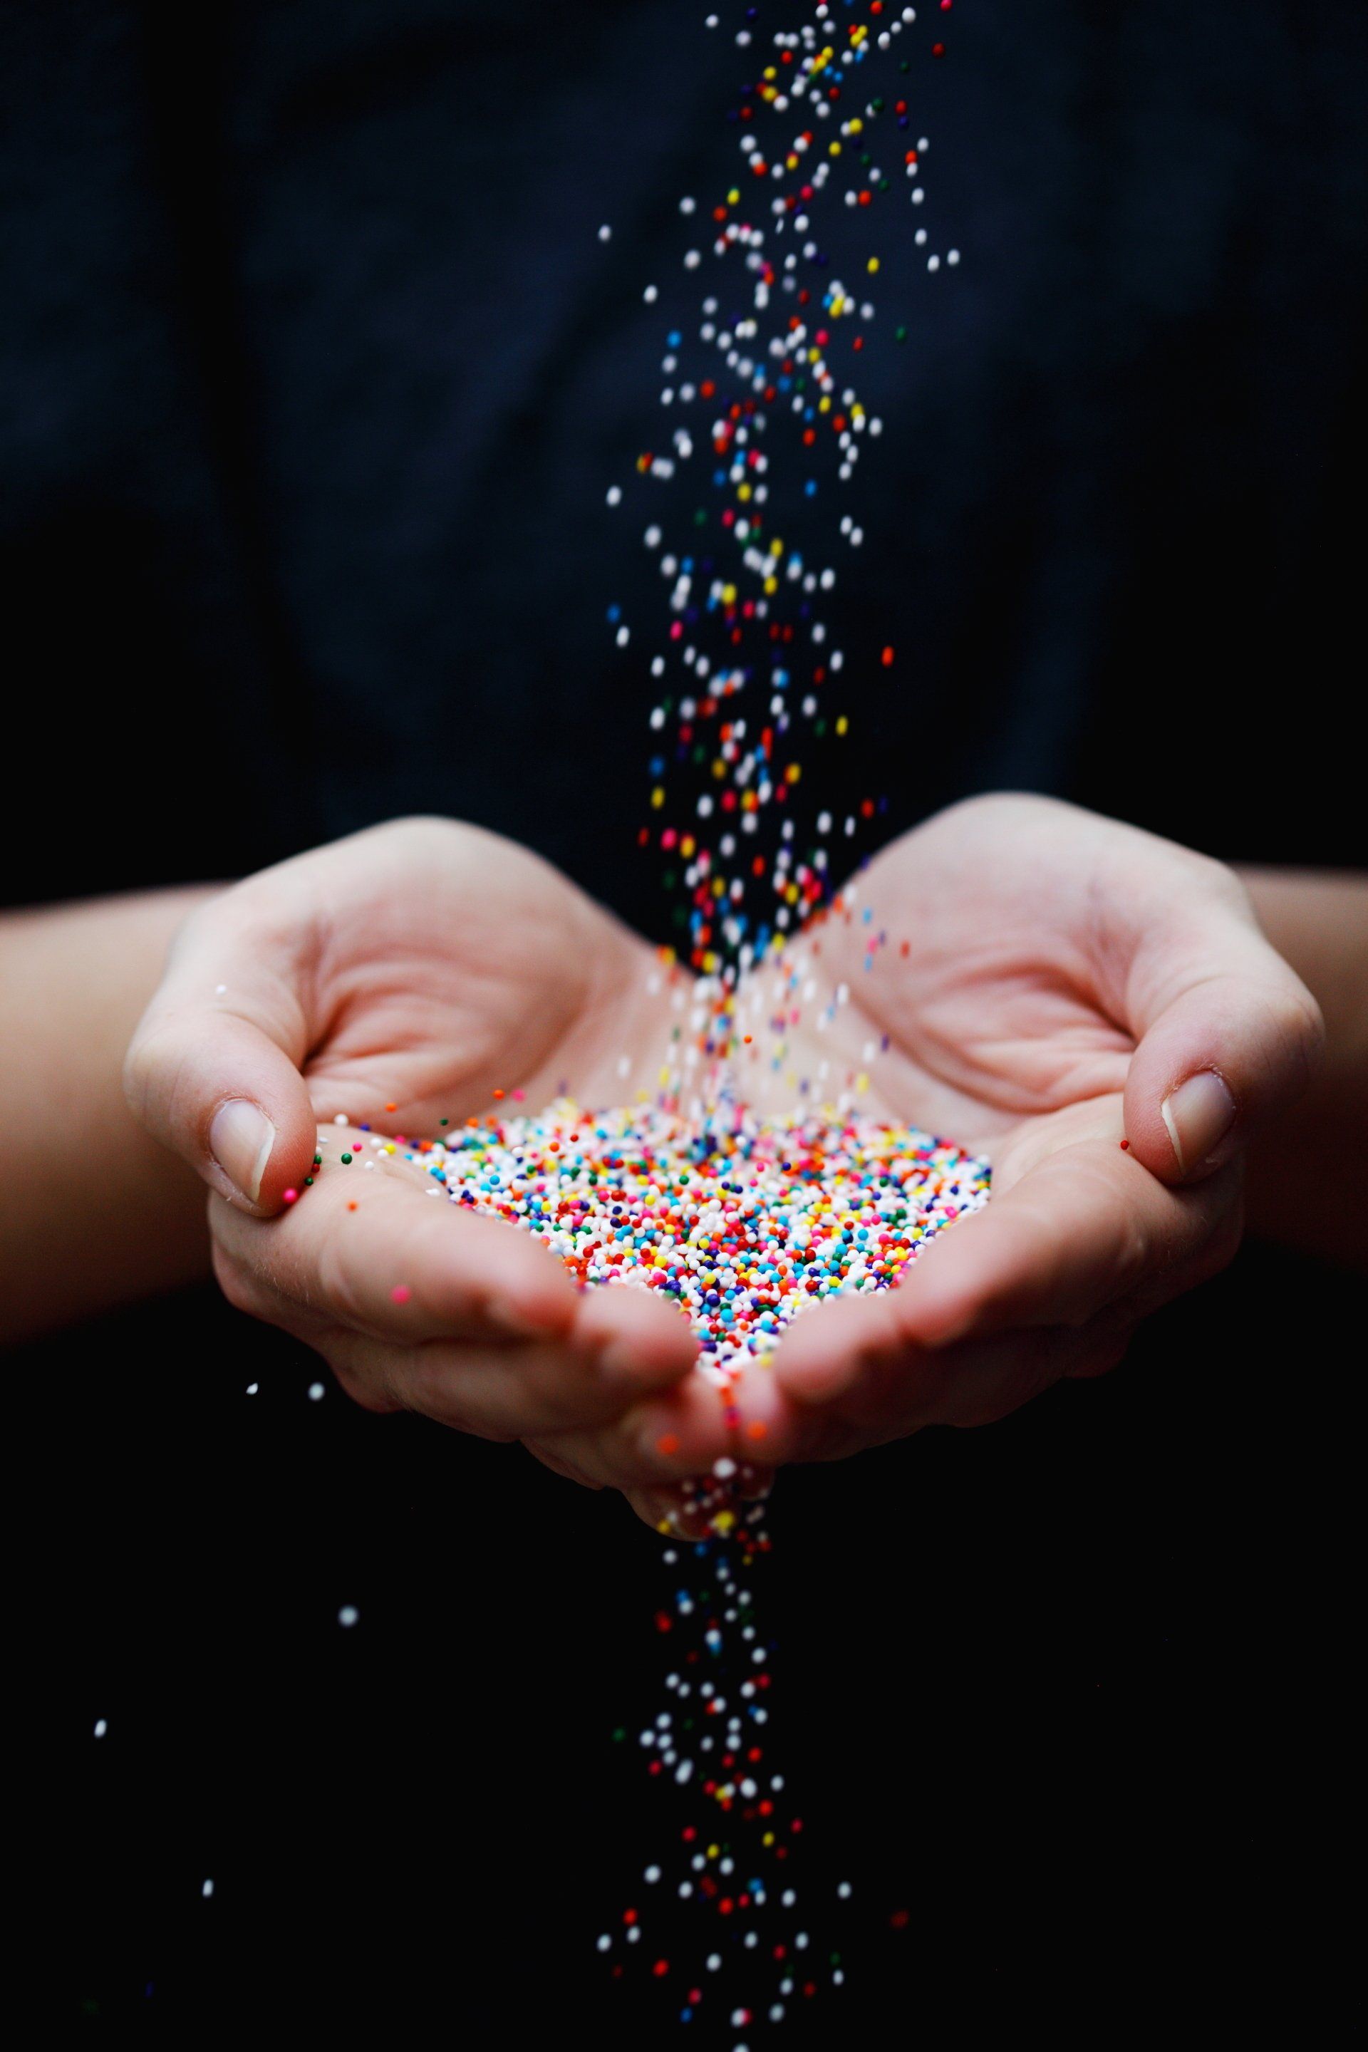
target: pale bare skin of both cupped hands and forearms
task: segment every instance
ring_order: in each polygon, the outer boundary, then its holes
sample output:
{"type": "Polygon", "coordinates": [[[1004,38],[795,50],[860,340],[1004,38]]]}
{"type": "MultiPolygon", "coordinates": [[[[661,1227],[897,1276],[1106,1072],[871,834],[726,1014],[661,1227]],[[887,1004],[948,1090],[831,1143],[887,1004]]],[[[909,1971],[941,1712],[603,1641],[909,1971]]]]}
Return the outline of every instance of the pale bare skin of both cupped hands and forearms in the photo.
{"type": "Polygon", "coordinates": [[[1337,1153],[1362,1155],[1368,889],[1251,882],[1282,954],[1233,872],[1048,800],[974,800],[878,858],[851,925],[814,936],[822,997],[845,981],[851,1001],[822,1034],[802,1008],[786,1071],[835,1071],[888,1034],[859,1108],[987,1151],[995,1194],[896,1291],[804,1315],[745,1377],[736,1441],[673,1307],[576,1293],[546,1248],[429,1194],[398,1157],[328,1166],[281,1207],[320,1135],[336,1161],[355,1131],[338,1112],[433,1135],[490,1110],[496,1088],[523,1088],[527,1108],[562,1083],[585,1104],[630,1100],[623,1055],[632,1083],[654,1079],[677,1018],[669,979],[650,993],[654,950],[546,864],[402,821],[226,893],[14,915],[0,921],[4,1129],[21,1147],[0,1182],[8,1336],[195,1274],[197,1172],[230,1299],[322,1352],[361,1404],[523,1438],[652,1523],[724,1451],[781,1465],[1001,1416],[1110,1367],[1149,1309],[1229,1258],[1249,1141],[1265,1178],[1261,1131],[1296,1149],[1298,1118],[1311,1145],[1317,1118],[1337,1120],[1337,1153]],[[890,946],[866,973],[870,930],[890,946]],[[1302,1112],[1321,1014],[1284,956],[1306,960],[1331,1012],[1302,1112]],[[129,1102],[160,1147],[115,1094],[129,1032],[129,1102]],[[1206,1081],[1183,1100],[1192,1077],[1206,1081]],[[265,1114],[265,1151],[226,1104],[265,1114]],[[98,1174],[74,1124],[100,1143],[98,1174]]]}

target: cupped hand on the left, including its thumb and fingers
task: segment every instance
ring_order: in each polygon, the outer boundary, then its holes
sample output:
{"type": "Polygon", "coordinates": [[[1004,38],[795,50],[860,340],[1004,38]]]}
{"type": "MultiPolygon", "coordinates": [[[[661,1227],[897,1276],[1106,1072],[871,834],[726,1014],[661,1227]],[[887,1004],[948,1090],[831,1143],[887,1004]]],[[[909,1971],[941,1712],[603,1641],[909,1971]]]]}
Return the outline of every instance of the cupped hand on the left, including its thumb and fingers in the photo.
{"type": "Polygon", "coordinates": [[[314,1346],[357,1402],[533,1441],[593,1486],[679,1475],[726,1445],[679,1311],[576,1291],[529,1233],[373,1145],[488,1114],[496,1092],[505,1110],[515,1092],[529,1110],[560,1092],[621,1102],[669,1040],[654,966],[525,850],[398,821],[187,921],[129,1049],[129,1102],[209,1184],[228,1297],[314,1346]]]}

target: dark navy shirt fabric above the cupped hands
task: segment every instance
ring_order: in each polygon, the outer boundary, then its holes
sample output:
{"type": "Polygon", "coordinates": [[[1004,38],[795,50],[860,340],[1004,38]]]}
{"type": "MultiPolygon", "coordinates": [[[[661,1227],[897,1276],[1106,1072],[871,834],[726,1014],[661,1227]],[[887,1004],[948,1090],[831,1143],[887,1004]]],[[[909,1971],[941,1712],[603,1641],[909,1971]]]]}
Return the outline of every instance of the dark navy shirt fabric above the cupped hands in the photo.
{"type": "MultiPolygon", "coordinates": [[[[909,92],[964,263],[890,277],[911,341],[861,359],[888,431],[833,640],[904,661],[849,788],[880,831],[1017,784],[1356,860],[1362,12],[974,0],[945,33],[909,92]]],[[[673,0],[68,0],[4,57],[10,745],[98,765],[119,821],[6,813],[6,895],[439,808],[660,930],[658,579],[603,495],[660,429],[642,283],[683,277],[751,53],[673,0]]]]}

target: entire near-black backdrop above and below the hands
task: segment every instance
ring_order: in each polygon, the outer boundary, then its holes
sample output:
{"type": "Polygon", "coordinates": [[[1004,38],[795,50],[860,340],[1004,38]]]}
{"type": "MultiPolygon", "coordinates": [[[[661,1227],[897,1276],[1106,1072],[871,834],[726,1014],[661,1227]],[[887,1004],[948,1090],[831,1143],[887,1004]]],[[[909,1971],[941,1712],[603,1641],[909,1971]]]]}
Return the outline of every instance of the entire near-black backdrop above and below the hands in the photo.
{"type": "MultiPolygon", "coordinates": [[[[603,490],[658,419],[642,283],[734,162],[755,57],[701,12],[4,8],[10,903],[439,808],[660,930],[640,636],[603,618],[658,579],[603,490]]],[[[1362,10],[921,12],[923,213],[964,263],[894,267],[911,343],[863,359],[888,427],[833,620],[851,675],[911,657],[855,694],[843,794],[880,837],[1017,784],[1362,864],[1362,10]]],[[[1247,1250],[1105,1383],[786,1477],[853,2044],[1304,2023],[1358,1305],[1247,1250]]],[[[10,1373],[53,2025],[611,2042],[589,1947],[648,1830],[607,1734],[656,1658],[628,1512],[308,1402],[207,1293],[10,1373]]]]}

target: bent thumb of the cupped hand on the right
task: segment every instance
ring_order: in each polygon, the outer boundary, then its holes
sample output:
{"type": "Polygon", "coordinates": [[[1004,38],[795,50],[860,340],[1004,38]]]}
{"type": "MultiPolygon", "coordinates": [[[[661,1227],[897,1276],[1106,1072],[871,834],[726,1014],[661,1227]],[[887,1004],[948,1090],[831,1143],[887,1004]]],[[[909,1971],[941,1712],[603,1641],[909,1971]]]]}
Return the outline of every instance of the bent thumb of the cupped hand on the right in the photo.
{"type": "MultiPolygon", "coordinates": [[[[1214,866],[1212,866],[1214,868],[1214,866]]],[[[1218,870],[1136,954],[1128,1005],[1140,1044],[1126,1077],[1130,1151],[1163,1182],[1208,1176],[1311,1079],[1321,1012],[1218,870]]]]}

